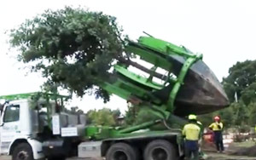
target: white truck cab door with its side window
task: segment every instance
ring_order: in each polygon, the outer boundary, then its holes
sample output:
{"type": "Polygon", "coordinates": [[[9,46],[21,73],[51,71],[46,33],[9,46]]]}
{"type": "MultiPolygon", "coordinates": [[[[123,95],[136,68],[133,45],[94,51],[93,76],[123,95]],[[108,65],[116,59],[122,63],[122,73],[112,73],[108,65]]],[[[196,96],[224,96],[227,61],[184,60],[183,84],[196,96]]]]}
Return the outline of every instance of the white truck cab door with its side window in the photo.
{"type": "Polygon", "coordinates": [[[2,114],[1,132],[1,153],[9,151],[10,143],[20,133],[20,105],[6,106],[2,114]]]}

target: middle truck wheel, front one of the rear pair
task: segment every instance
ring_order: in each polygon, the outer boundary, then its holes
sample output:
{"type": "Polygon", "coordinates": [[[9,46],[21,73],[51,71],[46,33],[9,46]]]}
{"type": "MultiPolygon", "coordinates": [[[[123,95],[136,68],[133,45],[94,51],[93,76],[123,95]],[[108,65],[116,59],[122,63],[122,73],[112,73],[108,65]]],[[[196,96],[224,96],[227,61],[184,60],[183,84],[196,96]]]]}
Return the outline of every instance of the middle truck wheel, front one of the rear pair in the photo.
{"type": "Polygon", "coordinates": [[[138,155],[130,145],[116,143],[108,149],[106,160],[138,160],[138,155]]]}

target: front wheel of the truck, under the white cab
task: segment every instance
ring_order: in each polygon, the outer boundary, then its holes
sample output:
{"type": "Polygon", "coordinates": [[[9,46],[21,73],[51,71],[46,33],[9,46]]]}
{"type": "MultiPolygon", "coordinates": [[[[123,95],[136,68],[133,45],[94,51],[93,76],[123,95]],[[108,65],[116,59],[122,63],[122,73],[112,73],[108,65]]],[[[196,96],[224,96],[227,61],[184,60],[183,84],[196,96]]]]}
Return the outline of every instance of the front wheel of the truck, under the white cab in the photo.
{"type": "Polygon", "coordinates": [[[15,146],[12,160],[34,160],[32,147],[27,143],[20,143],[20,145],[15,146]]]}

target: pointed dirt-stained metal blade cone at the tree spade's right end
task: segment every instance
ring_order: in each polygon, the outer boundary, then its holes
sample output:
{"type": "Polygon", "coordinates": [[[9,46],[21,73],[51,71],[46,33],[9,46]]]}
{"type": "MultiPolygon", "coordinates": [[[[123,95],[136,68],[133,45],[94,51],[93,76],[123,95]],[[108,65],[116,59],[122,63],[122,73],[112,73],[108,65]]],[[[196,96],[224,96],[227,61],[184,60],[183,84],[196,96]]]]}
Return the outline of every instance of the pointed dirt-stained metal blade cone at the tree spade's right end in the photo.
{"type": "MultiPolygon", "coordinates": [[[[170,56],[170,60],[176,66],[173,72],[179,72],[184,63],[183,57],[170,56]]],[[[179,116],[204,114],[228,105],[228,97],[218,78],[202,60],[198,60],[190,67],[177,94],[174,113],[179,116]]]]}

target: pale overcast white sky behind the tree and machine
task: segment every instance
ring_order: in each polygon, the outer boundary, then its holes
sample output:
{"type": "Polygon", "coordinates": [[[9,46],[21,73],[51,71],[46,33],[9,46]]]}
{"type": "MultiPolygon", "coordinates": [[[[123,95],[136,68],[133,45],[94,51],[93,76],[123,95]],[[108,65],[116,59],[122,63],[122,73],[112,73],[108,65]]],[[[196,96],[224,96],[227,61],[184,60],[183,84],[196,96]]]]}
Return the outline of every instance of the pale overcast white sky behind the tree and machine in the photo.
{"type": "MultiPolygon", "coordinates": [[[[0,95],[35,92],[43,83],[38,74],[20,70],[16,53],[9,53],[4,31],[18,26],[45,9],[81,6],[117,17],[132,39],[143,31],[203,54],[203,60],[221,81],[237,61],[255,60],[256,1],[251,0],[8,0],[0,1],[0,95]],[[9,53],[9,54],[7,54],[9,53]]],[[[86,96],[73,105],[125,109],[125,100],[113,97],[107,105],[86,96]]]]}

